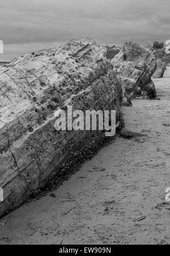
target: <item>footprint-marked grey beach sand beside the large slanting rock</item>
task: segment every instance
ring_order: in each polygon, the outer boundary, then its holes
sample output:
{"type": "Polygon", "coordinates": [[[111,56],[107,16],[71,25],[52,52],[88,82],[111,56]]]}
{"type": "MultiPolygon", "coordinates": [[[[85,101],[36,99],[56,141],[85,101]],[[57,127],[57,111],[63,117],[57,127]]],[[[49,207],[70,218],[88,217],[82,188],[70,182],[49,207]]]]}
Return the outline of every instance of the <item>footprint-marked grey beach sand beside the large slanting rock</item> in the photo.
{"type": "Polygon", "coordinates": [[[113,143],[54,192],[0,220],[0,244],[170,244],[170,68],[160,100],[124,107],[147,137],[113,143]]]}

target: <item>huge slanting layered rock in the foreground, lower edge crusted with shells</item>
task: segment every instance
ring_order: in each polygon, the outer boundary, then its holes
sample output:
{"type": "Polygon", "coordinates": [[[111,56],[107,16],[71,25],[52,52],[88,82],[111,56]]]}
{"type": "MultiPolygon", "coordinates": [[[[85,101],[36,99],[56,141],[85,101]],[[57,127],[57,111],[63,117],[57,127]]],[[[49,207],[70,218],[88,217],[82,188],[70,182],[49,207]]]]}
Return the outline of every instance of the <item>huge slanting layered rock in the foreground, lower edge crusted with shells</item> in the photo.
{"type": "Polygon", "coordinates": [[[54,129],[54,112],[116,110],[122,88],[104,47],[91,39],[19,57],[0,68],[0,216],[22,204],[70,152],[99,132],[54,129]]]}

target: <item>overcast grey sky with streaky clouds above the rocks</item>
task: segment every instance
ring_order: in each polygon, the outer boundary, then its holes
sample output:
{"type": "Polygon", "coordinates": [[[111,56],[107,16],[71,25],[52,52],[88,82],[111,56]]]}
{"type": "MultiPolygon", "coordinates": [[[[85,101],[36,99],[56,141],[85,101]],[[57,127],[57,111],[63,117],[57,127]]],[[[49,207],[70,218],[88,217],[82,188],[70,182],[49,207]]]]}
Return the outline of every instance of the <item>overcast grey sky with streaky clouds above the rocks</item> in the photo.
{"type": "Polygon", "coordinates": [[[0,60],[78,37],[102,45],[170,39],[169,0],[0,0],[0,60]]]}

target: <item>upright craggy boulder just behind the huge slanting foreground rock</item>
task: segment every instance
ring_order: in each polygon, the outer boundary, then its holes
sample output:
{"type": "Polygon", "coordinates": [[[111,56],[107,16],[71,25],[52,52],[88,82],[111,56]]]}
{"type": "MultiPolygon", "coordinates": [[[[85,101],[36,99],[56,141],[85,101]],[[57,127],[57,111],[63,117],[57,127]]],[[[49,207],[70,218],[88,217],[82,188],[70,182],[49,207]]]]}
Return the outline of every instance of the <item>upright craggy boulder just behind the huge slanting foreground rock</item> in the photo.
{"type": "Polygon", "coordinates": [[[148,45],[145,47],[133,42],[125,43],[111,63],[122,79],[125,98],[156,96],[155,86],[151,80],[156,69],[156,58],[148,45]]]}

